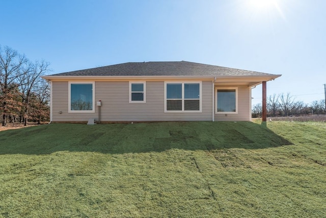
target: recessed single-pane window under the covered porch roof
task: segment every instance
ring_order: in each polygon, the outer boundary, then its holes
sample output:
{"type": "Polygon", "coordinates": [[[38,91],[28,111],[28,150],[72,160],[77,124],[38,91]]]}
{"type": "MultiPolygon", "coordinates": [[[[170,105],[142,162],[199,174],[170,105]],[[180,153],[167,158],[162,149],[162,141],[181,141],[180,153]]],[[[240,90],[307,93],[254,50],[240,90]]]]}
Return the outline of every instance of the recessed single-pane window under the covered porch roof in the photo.
{"type": "Polygon", "coordinates": [[[217,114],[238,113],[238,89],[237,88],[216,88],[216,111],[217,114]]]}

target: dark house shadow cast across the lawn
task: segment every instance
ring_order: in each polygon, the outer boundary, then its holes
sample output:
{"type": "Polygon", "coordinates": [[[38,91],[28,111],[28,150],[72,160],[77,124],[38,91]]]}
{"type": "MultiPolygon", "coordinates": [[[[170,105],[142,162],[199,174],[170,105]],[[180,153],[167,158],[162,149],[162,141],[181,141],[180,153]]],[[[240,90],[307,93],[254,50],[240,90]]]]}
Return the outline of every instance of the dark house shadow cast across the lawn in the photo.
{"type": "Polygon", "coordinates": [[[0,154],[57,151],[111,154],[169,149],[262,149],[291,145],[252,122],[157,122],[137,124],[48,124],[0,132],[0,154]]]}

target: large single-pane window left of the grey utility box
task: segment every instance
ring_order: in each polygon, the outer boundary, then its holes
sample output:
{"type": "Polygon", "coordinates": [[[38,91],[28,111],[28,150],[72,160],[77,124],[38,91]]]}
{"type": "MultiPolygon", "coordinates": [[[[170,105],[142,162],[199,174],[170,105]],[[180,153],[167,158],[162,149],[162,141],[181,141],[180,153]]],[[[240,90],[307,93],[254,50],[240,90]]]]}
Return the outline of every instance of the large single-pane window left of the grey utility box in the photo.
{"type": "Polygon", "coordinates": [[[95,83],[69,82],[69,113],[94,113],[95,83]]]}

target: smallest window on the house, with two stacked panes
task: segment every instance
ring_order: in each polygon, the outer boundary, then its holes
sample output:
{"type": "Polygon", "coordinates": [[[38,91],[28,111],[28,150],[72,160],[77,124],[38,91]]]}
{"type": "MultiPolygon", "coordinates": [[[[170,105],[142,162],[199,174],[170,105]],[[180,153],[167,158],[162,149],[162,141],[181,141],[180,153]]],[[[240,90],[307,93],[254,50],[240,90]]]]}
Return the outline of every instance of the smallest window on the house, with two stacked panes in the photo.
{"type": "Polygon", "coordinates": [[[129,103],[146,103],[146,82],[129,81],[129,103]]]}

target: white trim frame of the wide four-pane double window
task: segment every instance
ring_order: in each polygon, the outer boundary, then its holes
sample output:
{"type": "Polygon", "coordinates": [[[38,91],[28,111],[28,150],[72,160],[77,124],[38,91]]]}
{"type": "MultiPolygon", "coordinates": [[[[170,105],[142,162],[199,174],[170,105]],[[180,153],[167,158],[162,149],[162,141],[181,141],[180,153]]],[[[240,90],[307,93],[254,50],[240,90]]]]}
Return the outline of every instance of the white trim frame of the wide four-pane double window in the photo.
{"type": "MultiPolygon", "coordinates": [[[[173,100],[173,99],[169,99],[173,100]]],[[[178,99],[180,100],[180,99],[178,99]]],[[[164,113],[202,113],[202,81],[164,81],[164,113]],[[167,84],[182,84],[182,111],[167,111],[167,84]],[[198,99],[184,99],[184,84],[199,84],[199,111],[184,111],[184,100],[198,100],[198,99]]]]}

